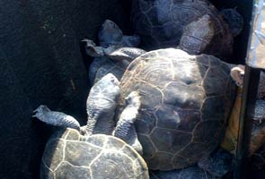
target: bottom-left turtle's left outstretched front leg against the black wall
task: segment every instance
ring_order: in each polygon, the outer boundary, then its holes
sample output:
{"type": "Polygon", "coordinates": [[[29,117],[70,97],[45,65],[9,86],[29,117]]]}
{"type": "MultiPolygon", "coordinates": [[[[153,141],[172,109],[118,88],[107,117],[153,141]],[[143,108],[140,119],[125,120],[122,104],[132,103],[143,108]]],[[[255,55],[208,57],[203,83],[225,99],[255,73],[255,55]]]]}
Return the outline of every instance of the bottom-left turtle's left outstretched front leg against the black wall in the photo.
{"type": "Polygon", "coordinates": [[[32,117],[37,117],[40,121],[50,124],[53,126],[59,126],[63,128],[73,128],[80,130],[80,124],[71,115],[66,115],[61,112],[51,111],[47,106],[40,105],[36,110],[34,110],[35,115],[32,117]]]}

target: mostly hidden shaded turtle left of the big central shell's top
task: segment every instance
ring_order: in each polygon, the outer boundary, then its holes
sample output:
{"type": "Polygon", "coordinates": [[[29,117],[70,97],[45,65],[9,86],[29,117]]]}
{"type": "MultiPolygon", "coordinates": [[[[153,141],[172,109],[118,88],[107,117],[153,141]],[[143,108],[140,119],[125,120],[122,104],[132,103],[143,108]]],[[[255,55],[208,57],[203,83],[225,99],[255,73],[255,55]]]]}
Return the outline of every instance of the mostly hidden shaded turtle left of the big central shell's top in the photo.
{"type": "Polygon", "coordinates": [[[94,57],[89,67],[90,83],[93,85],[94,82],[99,81],[108,72],[113,73],[120,80],[129,62],[126,59],[116,60],[115,56],[110,59],[113,56],[110,53],[119,47],[137,47],[140,43],[140,38],[137,35],[123,35],[119,26],[110,20],[102,23],[98,38],[98,47],[93,40],[83,40],[86,54],[94,57]]]}

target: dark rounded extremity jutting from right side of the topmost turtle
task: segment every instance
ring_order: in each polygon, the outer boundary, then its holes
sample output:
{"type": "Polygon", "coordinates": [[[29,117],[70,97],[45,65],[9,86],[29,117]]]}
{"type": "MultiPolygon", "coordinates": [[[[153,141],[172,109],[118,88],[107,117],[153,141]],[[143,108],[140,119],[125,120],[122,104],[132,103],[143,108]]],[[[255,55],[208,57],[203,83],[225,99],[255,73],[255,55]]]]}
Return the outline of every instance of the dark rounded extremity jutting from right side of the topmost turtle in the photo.
{"type": "Polygon", "coordinates": [[[228,23],[229,30],[233,37],[237,36],[243,30],[243,17],[236,9],[224,9],[220,12],[220,15],[228,23]]]}

